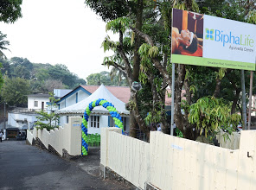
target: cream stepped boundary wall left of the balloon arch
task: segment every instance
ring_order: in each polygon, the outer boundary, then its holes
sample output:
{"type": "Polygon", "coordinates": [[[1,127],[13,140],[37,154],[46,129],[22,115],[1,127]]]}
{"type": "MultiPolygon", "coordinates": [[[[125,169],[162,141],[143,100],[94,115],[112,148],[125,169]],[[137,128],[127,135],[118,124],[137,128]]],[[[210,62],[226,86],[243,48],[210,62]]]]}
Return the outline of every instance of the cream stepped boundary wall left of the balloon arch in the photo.
{"type": "Polygon", "coordinates": [[[45,147],[51,145],[60,155],[66,149],[69,155],[81,154],[81,117],[70,117],[70,122],[55,130],[27,130],[27,140],[32,144],[38,137],[45,147]]]}

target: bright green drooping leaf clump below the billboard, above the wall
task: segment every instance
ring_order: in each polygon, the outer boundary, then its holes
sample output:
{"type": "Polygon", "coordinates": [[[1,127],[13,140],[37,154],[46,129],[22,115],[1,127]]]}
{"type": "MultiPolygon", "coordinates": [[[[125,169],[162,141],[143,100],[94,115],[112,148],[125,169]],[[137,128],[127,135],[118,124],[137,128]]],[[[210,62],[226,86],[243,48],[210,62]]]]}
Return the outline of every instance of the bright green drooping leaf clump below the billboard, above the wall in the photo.
{"type": "Polygon", "coordinates": [[[205,136],[215,135],[216,131],[227,130],[230,134],[240,122],[240,115],[230,114],[231,104],[224,99],[203,97],[189,107],[189,123],[195,124],[196,129],[205,132],[205,136]]]}

